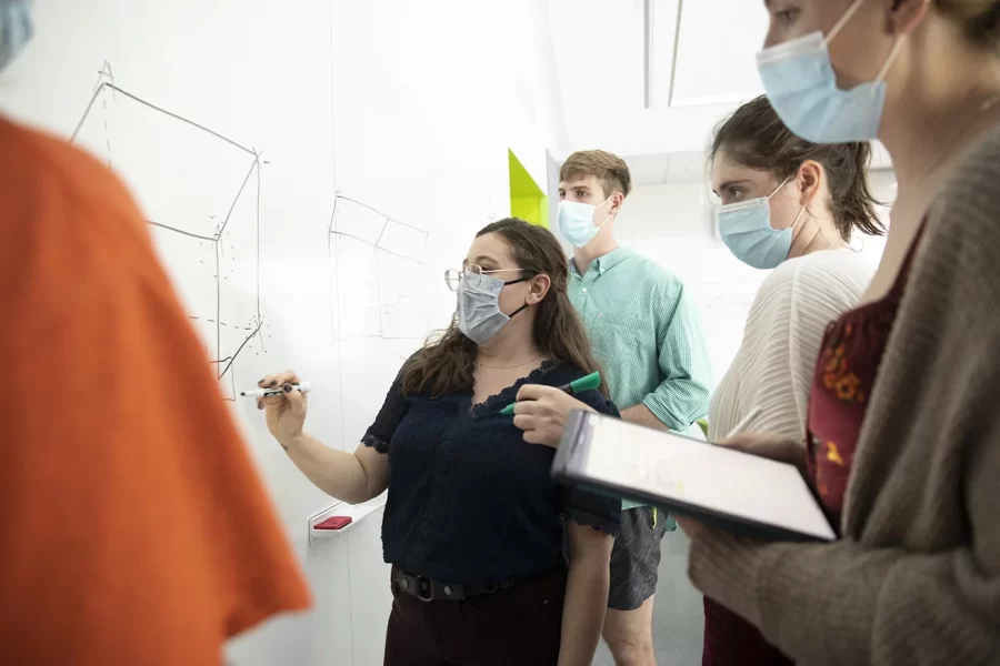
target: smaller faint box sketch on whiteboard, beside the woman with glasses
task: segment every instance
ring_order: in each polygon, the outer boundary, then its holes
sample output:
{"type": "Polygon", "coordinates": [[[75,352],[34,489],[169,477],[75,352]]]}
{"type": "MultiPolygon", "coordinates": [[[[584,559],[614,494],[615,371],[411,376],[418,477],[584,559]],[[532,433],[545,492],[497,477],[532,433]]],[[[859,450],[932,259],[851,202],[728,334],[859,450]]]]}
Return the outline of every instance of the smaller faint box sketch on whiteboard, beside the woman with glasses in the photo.
{"type": "Polygon", "coordinates": [[[337,193],[328,228],[336,342],[426,339],[427,240],[427,231],[337,193]]]}

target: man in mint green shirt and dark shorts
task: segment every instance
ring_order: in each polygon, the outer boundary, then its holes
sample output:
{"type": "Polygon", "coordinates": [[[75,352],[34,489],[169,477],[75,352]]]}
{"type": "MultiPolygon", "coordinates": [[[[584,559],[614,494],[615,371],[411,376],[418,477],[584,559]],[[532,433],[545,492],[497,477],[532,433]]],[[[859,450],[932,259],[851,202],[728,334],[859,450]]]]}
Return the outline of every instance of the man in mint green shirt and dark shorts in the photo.
{"type": "MultiPolygon", "coordinates": [[[[629,168],[603,151],[569,157],[559,173],[559,233],[573,245],[569,296],[604,365],[626,421],[687,431],[708,413],[711,370],[698,313],[683,283],[614,240],[631,190],[629,168]]],[[[611,554],[603,637],[616,664],[656,663],[652,608],[660,541],[672,521],[622,503],[611,554]]]]}

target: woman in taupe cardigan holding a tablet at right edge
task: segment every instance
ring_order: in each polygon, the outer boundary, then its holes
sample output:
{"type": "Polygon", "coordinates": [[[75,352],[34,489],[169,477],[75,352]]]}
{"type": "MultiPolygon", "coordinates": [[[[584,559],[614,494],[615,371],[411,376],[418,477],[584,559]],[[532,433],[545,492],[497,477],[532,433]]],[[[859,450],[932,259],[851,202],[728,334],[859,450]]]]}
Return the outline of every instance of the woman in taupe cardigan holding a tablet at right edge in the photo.
{"type": "Polygon", "coordinates": [[[772,0],[758,64],[797,135],[878,137],[899,191],[861,304],[826,332],[798,463],[842,537],[686,519],[706,595],[801,664],[1000,657],[1000,0],[772,0]]]}

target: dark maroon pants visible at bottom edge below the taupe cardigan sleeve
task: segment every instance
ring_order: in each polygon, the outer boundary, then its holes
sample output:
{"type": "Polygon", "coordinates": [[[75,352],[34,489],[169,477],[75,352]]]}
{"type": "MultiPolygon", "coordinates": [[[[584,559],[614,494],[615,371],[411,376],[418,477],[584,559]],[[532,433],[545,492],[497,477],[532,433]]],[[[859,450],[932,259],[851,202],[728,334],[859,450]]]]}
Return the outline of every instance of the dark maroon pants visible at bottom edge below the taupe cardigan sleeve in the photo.
{"type": "Polygon", "coordinates": [[[701,666],[792,666],[794,662],[764,640],[752,624],[704,597],[701,666]]]}

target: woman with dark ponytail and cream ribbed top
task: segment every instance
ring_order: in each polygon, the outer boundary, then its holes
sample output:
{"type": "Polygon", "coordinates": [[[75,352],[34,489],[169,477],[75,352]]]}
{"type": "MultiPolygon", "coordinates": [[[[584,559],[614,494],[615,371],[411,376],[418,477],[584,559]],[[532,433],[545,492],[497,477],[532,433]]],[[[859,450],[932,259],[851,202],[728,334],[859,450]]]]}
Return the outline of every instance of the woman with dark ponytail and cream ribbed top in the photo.
{"type": "MultiPolygon", "coordinates": [[[[868,143],[816,144],[792,134],[763,97],[716,130],[710,162],[719,233],[740,261],[774,269],[709,406],[709,441],[747,424],[806,432],[809,385],[827,324],[858,303],[873,266],[848,248],[882,233],[868,189],[868,143]]],[[[704,598],[704,666],[790,664],[753,625],[704,598]]]]}

